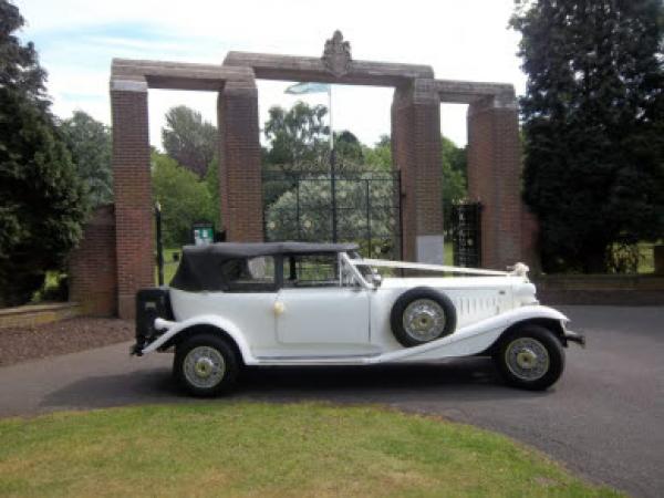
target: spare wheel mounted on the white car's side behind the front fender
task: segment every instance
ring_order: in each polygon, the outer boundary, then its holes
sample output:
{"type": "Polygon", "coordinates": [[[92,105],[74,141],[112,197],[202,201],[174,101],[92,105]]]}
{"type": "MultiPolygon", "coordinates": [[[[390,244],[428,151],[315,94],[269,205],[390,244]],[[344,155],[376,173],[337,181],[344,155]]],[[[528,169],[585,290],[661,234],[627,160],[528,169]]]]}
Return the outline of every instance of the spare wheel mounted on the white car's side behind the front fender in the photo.
{"type": "Polygon", "coordinates": [[[453,333],[456,310],[447,295],[418,287],[396,300],[390,321],[396,340],[405,346],[415,346],[453,333]]]}

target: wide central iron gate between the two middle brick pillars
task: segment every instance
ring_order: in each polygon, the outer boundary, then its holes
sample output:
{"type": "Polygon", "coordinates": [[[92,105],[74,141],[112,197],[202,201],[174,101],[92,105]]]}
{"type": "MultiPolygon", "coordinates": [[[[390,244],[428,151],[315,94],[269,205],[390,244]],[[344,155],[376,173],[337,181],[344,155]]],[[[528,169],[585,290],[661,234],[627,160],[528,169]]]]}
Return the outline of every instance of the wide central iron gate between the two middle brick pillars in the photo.
{"type": "Polygon", "coordinates": [[[356,242],[364,257],[401,259],[398,172],[263,172],[268,241],[356,242]]]}

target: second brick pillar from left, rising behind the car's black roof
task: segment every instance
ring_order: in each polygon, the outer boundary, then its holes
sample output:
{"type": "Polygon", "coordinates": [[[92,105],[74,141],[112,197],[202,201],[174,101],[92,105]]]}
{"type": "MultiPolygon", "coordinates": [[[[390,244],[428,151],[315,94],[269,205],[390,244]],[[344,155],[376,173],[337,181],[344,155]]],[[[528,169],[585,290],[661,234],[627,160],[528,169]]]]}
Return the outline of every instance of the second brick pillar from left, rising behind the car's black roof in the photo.
{"type": "Polygon", "coordinates": [[[253,80],[219,92],[219,193],[228,241],[263,240],[258,91],[253,80]]]}

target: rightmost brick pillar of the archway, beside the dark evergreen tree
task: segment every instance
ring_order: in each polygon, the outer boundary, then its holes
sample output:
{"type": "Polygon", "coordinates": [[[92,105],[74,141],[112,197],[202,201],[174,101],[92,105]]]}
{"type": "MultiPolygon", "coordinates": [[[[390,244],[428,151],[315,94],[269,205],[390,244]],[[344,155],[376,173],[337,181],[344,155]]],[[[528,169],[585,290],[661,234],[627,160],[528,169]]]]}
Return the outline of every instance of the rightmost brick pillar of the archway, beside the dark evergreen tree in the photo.
{"type": "Polygon", "coordinates": [[[513,93],[468,106],[468,197],[483,205],[483,267],[504,270],[521,261],[521,151],[513,93]]]}

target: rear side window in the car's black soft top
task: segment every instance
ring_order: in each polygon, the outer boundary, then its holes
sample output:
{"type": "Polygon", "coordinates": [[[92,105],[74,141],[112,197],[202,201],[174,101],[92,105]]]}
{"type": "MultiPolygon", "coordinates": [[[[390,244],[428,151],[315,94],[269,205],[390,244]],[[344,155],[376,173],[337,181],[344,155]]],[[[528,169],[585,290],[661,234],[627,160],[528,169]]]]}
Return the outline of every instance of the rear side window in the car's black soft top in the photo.
{"type": "Polygon", "coordinates": [[[229,259],[221,266],[221,276],[229,291],[272,291],[274,290],[274,258],[259,256],[229,259]]]}

